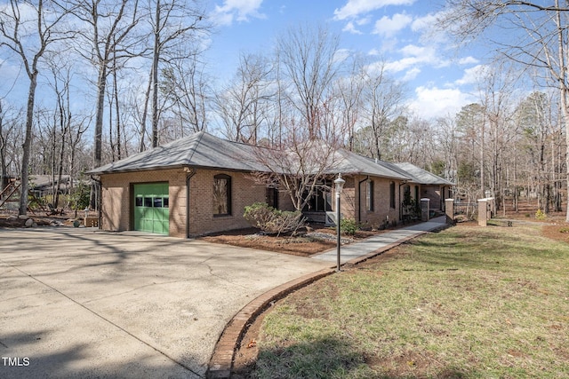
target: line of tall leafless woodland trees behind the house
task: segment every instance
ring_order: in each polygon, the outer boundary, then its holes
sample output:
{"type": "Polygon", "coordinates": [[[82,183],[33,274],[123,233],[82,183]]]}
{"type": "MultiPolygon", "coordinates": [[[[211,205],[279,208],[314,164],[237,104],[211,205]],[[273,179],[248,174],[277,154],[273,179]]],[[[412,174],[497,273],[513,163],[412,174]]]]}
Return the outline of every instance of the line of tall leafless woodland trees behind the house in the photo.
{"type": "Polygon", "coordinates": [[[533,35],[500,44],[500,57],[478,74],[476,102],[423,119],[407,107],[409,89],[387,62],[347,53],[324,25],[284,30],[272,51],[243,52],[227,83],[215,83],[204,61],[215,37],[204,4],[12,0],[0,7],[0,49],[10,56],[0,65],[20,67],[28,89],[12,88],[26,93],[25,106],[0,99],[2,175],[20,177],[27,193],[30,173],[54,183],[63,174],[76,178],[209,130],[252,145],[296,146],[311,160],[318,150],[302,147],[322,139],[412,162],[453,180],[466,201],[493,196],[505,209],[506,201],[516,207],[520,196],[533,196],[546,213],[561,210],[568,10],[498,0],[446,7],[438,27],[457,41],[487,38],[497,24],[533,35]],[[77,93],[87,95],[82,104],[77,93]]]}

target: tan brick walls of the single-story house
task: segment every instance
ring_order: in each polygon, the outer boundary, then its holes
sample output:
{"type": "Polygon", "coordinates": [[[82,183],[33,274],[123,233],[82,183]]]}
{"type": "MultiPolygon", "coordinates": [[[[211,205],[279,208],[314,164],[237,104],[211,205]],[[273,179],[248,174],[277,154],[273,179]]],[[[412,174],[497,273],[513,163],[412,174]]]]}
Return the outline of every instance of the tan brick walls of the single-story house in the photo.
{"type": "MultiPolygon", "coordinates": [[[[188,173],[181,169],[102,175],[101,228],[118,232],[132,230],[132,185],[167,182],[170,196],[169,235],[185,238],[187,233],[187,176],[188,173]]],[[[365,176],[345,178],[346,184],[341,198],[342,215],[372,227],[382,225],[388,217],[389,222],[399,222],[401,182],[389,178],[371,178],[373,180],[373,211],[367,211],[365,209],[365,186],[358,185],[366,178],[365,176]],[[396,209],[389,206],[391,181],[394,181],[396,185],[396,209]]],[[[228,170],[195,170],[189,179],[189,236],[249,227],[249,223],[243,218],[244,207],[253,202],[265,201],[265,195],[265,186],[256,184],[246,173],[228,170]],[[225,174],[231,178],[231,214],[217,217],[213,215],[212,193],[213,177],[219,174],[225,174]]],[[[332,200],[334,207],[334,195],[332,200]]],[[[279,209],[293,210],[293,203],[285,191],[279,192],[278,204],[279,209]]]]}

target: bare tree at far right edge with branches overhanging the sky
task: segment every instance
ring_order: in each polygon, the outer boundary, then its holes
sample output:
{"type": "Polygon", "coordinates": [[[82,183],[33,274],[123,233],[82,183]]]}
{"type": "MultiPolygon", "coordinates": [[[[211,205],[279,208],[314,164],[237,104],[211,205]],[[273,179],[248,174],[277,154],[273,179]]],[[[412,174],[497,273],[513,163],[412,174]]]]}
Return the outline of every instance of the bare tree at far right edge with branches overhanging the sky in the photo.
{"type": "MultiPolygon", "coordinates": [[[[565,126],[569,124],[569,29],[566,28],[569,6],[518,0],[448,0],[447,11],[438,25],[462,42],[483,36],[494,43],[503,56],[535,67],[549,76],[557,88],[565,126]],[[496,32],[496,28],[507,32],[496,32]],[[517,33],[512,37],[513,33],[517,33]]],[[[565,143],[569,133],[565,131],[565,143]]],[[[565,164],[569,165],[569,154],[565,164]]],[[[566,176],[569,185],[569,175],[566,176]]],[[[569,207],[565,220],[569,222],[569,207]]]]}

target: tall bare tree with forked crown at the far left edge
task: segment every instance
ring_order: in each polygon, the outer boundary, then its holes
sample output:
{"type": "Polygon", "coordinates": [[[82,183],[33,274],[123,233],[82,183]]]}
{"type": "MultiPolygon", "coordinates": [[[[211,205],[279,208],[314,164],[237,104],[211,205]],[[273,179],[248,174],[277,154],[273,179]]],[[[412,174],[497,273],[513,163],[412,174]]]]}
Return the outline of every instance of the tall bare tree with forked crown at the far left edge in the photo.
{"type": "Polygon", "coordinates": [[[11,0],[10,4],[0,8],[0,47],[8,48],[19,57],[29,80],[21,160],[20,215],[28,213],[28,166],[40,60],[53,43],[68,38],[68,34],[57,30],[58,24],[67,15],[68,9],[55,1],[11,0]]]}

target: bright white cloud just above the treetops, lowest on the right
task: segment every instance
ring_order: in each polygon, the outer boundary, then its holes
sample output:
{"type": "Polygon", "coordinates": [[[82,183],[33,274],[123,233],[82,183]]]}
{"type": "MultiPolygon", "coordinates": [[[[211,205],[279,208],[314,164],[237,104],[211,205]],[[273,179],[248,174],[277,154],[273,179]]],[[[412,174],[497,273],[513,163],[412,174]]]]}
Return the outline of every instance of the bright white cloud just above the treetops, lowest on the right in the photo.
{"type": "Polygon", "coordinates": [[[440,89],[437,87],[417,87],[415,99],[409,104],[413,112],[422,118],[442,117],[456,114],[461,107],[474,102],[468,93],[458,89],[440,89]]]}

